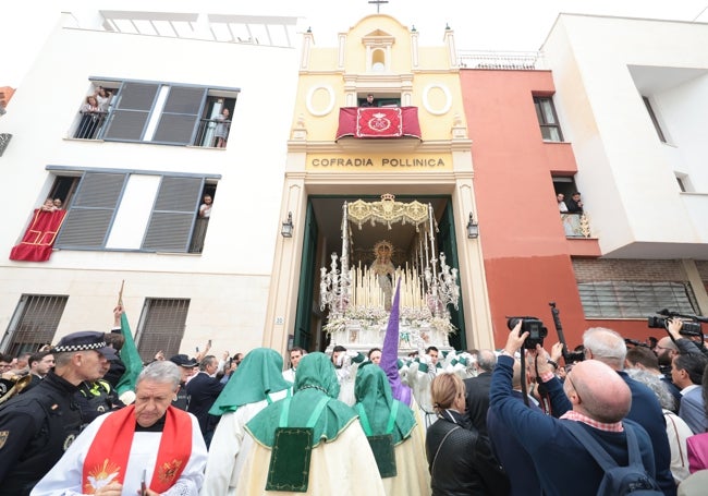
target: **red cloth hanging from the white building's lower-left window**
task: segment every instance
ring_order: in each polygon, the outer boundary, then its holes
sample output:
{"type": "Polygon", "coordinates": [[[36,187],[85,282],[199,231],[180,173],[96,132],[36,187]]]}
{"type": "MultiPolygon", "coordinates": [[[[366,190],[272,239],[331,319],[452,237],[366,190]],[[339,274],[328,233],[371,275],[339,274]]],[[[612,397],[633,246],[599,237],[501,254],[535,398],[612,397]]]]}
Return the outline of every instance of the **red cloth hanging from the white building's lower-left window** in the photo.
{"type": "Polygon", "coordinates": [[[66,210],[44,211],[37,208],[22,241],[10,252],[10,259],[47,262],[65,216],[66,210]]]}

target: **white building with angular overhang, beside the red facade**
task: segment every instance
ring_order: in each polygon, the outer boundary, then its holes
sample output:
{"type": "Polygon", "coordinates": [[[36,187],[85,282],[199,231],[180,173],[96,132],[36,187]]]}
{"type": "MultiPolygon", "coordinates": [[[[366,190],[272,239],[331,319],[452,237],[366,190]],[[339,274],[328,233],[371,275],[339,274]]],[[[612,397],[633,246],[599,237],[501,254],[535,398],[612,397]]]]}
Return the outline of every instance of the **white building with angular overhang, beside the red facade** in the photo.
{"type": "Polygon", "coordinates": [[[588,325],[661,337],[637,310],[708,313],[707,39],[705,23],[561,14],[542,46],[601,252],[573,259],[585,318],[620,318],[588,325]],[[669,281],[684,291],[659,294],[669,281]]]}

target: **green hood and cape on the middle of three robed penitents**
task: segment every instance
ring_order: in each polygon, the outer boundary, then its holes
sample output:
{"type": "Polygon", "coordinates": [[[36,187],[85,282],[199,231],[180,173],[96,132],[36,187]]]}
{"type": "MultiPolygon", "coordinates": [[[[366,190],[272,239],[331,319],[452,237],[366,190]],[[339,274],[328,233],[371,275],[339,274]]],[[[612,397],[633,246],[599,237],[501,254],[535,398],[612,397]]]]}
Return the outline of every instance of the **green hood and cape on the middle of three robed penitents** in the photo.
{"type": "MultiPolygon", "coordinates": [[[[308,353],[297,364],[295,387],[290,403],[288,427],[304,427],[313,409],[322,398],[330,398],[317,419],[313,436],[313,448],[320,440],[330,443],[356,420],[356,412],[339,401],[339,383],[332,361],[318,351],[308,353]]],[[[269,404],[246,424],[246,431],[261,445],[272,448],[276,427],[280,422],[283,400],[269,404]]]]}

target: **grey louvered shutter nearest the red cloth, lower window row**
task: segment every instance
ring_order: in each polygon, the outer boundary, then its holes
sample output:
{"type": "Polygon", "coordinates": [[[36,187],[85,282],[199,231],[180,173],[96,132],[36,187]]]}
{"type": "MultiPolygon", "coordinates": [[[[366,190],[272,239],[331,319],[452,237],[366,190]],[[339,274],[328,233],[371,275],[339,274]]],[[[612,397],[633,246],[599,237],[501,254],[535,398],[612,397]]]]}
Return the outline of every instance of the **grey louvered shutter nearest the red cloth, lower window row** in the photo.
{"type": "Polygon", "coordinates": [[[57,238],[57,247],[103,247],[124,183],[125,174],[86,172],[57,238]]]}

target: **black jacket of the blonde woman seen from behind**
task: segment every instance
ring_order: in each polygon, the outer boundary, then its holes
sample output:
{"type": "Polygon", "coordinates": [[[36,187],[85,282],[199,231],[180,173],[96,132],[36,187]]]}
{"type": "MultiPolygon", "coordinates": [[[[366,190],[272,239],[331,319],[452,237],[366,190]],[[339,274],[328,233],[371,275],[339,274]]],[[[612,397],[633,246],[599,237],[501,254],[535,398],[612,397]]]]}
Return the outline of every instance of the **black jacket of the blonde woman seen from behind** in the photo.
{"type": "Polygon", "coordinates": [[[432,496],[509,494],[509,479],[491,453],[489,441],[474,427],[465,428],[457,412],[445,410],[428,427],[425,450],[432,496]]]}

